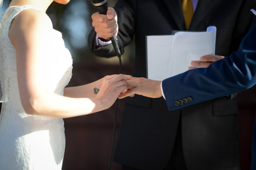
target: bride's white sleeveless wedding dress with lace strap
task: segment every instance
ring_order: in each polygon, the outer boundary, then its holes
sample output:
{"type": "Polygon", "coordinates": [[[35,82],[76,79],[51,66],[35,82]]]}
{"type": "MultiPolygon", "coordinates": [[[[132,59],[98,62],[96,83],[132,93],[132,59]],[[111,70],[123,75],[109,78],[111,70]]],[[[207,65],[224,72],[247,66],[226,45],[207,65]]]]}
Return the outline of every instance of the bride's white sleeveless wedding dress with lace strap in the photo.
{"type": "MultiPolygon", "coordinates": [[[[2,15],[0,26],[0,80],[8,102],[0,115],[0,170],[61,170],[65,149],[63,119],[28,115],[19,95],[16,51],[9,39],[12,19],[35,6],[12,6],[2,15]]],[[[45,49],[48,92],[63,95],[72,75],[72,58],[62,34],[52,29],[45,49]]]]}

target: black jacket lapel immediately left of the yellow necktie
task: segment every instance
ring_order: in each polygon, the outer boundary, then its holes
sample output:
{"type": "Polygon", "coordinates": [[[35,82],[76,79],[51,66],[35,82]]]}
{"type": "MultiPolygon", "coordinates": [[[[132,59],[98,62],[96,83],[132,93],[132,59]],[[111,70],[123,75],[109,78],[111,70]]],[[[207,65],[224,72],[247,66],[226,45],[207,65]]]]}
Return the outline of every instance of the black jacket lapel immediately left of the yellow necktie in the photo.
{"type": "Polygon", "coordinates": [[[163,0],[180,30],[186,30],[181,0],[163,0]]]}

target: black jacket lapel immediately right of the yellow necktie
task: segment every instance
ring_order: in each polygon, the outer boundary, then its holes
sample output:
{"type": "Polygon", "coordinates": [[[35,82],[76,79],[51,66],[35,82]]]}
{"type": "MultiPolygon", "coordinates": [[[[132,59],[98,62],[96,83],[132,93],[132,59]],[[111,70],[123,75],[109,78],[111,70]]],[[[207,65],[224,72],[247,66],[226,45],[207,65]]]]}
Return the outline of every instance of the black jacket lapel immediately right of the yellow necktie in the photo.
{"type": "Polygon", "coordinates": [[[210,8],[214,5],[216,0],[199,0],[196,11],[190,23],[188,30],[194,30],[194,28],[202,21],[205,15],[209,12],[210,8]]]}

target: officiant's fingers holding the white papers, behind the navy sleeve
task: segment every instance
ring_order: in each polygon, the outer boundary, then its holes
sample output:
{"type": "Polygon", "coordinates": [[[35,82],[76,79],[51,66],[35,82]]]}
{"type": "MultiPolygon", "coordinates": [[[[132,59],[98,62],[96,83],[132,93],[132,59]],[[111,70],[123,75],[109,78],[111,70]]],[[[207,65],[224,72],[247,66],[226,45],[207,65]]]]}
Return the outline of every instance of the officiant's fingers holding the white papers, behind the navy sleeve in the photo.
{"type": "Polygon", "coordinates": [[[191,61],[190,67],[188,67],[188,70],[194,69],[194,68],[206,68],[210,64],[212,64],[215,61],[219,61],[223,59],[223,56],[220,55],[205,55],[200,57],[200,61],[191,61]]]}

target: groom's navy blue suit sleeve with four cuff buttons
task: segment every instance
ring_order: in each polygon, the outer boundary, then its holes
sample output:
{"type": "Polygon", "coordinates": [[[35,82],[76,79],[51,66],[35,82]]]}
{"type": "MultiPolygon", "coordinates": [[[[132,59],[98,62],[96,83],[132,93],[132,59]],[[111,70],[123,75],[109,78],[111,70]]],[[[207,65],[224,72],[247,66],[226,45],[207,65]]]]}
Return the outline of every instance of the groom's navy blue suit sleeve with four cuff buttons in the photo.
{"type": "Polygon", "coordinates": [[[256,25],[238,51],[212,63],[165,79],[162,88],[169,110],[234,94],[256,84],[256,25]],[[187,100],[189,99],[189,100],[187,100]],[[180,101],[180,104],[176,101],[180,101]]]}

